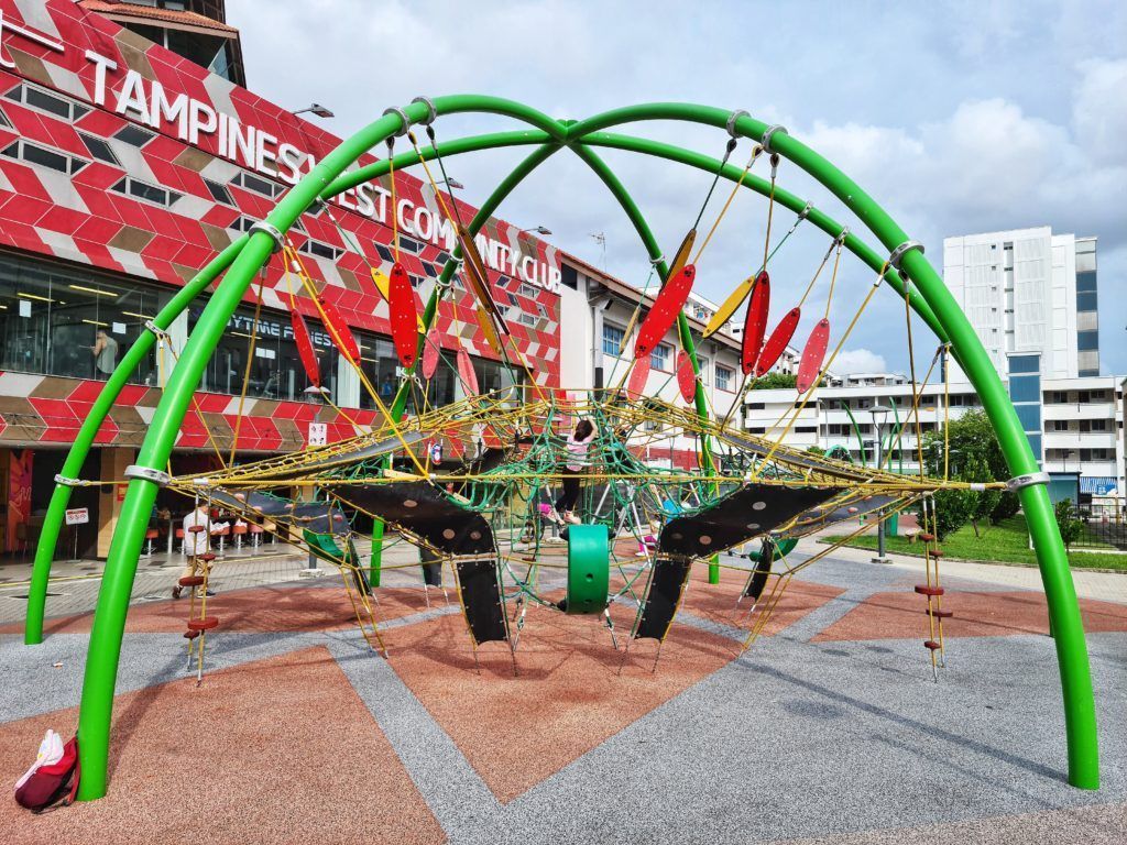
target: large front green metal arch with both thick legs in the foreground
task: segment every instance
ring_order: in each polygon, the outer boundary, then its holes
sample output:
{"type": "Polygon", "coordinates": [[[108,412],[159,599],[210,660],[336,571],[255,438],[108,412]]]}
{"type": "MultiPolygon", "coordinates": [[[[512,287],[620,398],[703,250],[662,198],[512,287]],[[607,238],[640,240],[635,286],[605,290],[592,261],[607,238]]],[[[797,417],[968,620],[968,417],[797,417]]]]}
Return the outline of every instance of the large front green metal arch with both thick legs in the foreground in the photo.
{"type": "MultiPolygon", "coordinates": [[[[549,142],[536,153],[525,159],[522,167],[518,167],[517,171],[514,171],[506,180],[511,183],[508,189],[515,187],[527,172],[539,164],[539,161],[534,161],[538,155],[547,159],[560,145],[575,146],[578,144],[580,149],[586,149],[583,142],[588,135],[621,123],[674,119],[725,127],[728,125],[729,117],[735,117],[733,127],[736,134],[756,141],[762,141],[764,132],[769,128],[763,122],[746,115],[733,116],[722,109],[691,104],[632,106],[596,115],[577,123],[556,122],[522,104],[494,97],[472,95],[441,97],[434,100],[434,107],[438,115],[465,112],[507,115],[522,119],[549,135],[549,142]],[[518,172],[522,170],[523,172],[518,172]]],[[[429,107],[425,103],[416,101],[405,107],[401,113],[409,122],[416,123],[429,116],[429,107]]],[[[337,180],[340,179],[346,167],[401,128],[398,115],[397,112],[390,112],[343,142],[282,198],[265,222],[277,230],[289,230],[310,204],[321,196],[331,195],[328,188],[337,187],[337,180]]],[[[827,160],[781,132],[777,132],[772,136],[771,146],[837,196],[873,232],[887,250],[891,251],[907,242],[907,235],[895,221],[855,183],[827,160]]],[[[583,153],[580,157],[584,157],[583,153]]],[[[585,158],[585,160],[588,163],[593,161],[591,158],[585,158]]],[[[506,194],[508,189],[506,189],[506,194]]],[[[497,202],[499,203],[499,198],[497,202]]],[[[632,205],[632,201],[630,204],[632,205]]],[[[496,203],[494,207],[496,207],[496,203]]],[[[482,208],[478,216],[480,217],[481,214],[488,216],[491,212],[491,208],[488,211],[482,208]]],[[[640,220],[640,215],[638,219],[640,220]]],[[[639,231],[641,230],[639,229],[639,231]]],[[[222,335],[227,319],[241,302],[254,275],[268,259],[273,246],[269,234],[256,231],[249,235],[238,255],[233,256],[231,266],[204,309],[178,365],[172,371],[137,455],[137,466],[159,470],[166,465],[180,420],[187,412],[194,388],[222,335]]],[[[940,337],[946,335],[950,339],[953,352],[958,355],[965,372],[974,383],[997,432],[1011,472],[1015,477],[1038,472],[1039,468],[1018,421],[1013,406],[1005,393],[1004,385],[993,370],[974,330],[943,286],[942,279],[919,250],[907,251],[903,256],[900,269],[915,285],[921,297],[933,312],[938,323],[933,328],[937,328],[940,337]]],[[[450,272],[452,272],[450,267],[444,270],[447,274],[450,272]]],[[[435,308],[436,302],[428,303],[427,318],[433,318],[435,308]]],[[[152,481],[136,477],[130,480],[107,558],[90,634],[79,720],[79,732],[82,737],[80,748],[82,749],[85,770],[80,797],[83,800],[105,794],[109,722],[122,632],[125,614],[128,610],[137,557],[143,544],[144,525],[156,493],[157,487],[152,481]]],[[[1099,784],[1094,702],[1083,628],[1075,589],[1067,567],[1067,558],[1044,486],[1023,487],[1019,495],[1030,524],[1030,534],[1037,551],[1054,625],[1064,692],[1070,781],[1076,786],[1094,789],[1099,784]]]]}

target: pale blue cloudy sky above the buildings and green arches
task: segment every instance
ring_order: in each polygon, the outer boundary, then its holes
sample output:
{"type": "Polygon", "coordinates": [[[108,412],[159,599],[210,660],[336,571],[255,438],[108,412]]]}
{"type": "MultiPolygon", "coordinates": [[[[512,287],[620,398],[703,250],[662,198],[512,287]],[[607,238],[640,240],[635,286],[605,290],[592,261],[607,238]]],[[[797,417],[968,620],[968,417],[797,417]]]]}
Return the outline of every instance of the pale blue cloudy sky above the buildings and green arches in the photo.
{"type": "MultiPolygon", "coordinates": [[[[788,132],[852,177],[926,248],[942,272],[944,237],[1049,225],[1099,238],[1100,352],[1104,374],[1127,374],[1127,3],[701,2],[524,0],[229,0],[248,84],[283,107],[329,107],[347,135],[419,95],[508,97],[557,118],[649,101],[742,108],[788,132]]],[[[317,118],[312,118],[317,119],[317,118]]],[[[494,116],[451,116],[438,139],[504,128],[494,116]]],[[[621,131],[724,154],[715,128],[647,123],[621,131]]],[[[733,161],[744,164],[744,140],[733,161]]],[[[378,151],[376,151],[378,152],[378,151]]],[[[447,161],[480,203],[520,149],[447,161]]],[[[710,177],[606,151],[666,255],[692,225],[710,177]]],[[[765,162],[755,166],[769,175],[765,162]]],[[[841,203],[796,166],[779,185],[850,223],[841,203]]],[[[727,198],[704,214],[711,225],[727,198]]],[[[762,260],[766,201],[731,205],[698,263],[696,291],[722,300],[762,260]]],[[[636,285],[650,272],[622,210],[575,155],[557,154],[502,205],[521,226],[636,285]],[[605,235],[604,247],[592,234],[605,235]]],[[[774,216],[772,246],[795,217],[774,216]]],[[[863,233],[876,246],[876,238],[863,233]]],[[[772,311],[797,303],[828,246],[800,225],[772,259],[772,311]],[[778,304],[775,304],[778,303],[778,304]]],[[[826,312],[827,274],[804,309],[799,339],[826,312]]],[[[844,257],[828,313],[832,343],[873,273],[844,257]]],[[[934,345],[913,326],[916,366],[934,345]],[[926,340],[924,340],[926,338],[926,340]]],[[[906,372],[903,302],[878,291],[846,340],[836,372],[906,372]]],[[[566,343],[564,353],[567,354],[566,343]]]]}

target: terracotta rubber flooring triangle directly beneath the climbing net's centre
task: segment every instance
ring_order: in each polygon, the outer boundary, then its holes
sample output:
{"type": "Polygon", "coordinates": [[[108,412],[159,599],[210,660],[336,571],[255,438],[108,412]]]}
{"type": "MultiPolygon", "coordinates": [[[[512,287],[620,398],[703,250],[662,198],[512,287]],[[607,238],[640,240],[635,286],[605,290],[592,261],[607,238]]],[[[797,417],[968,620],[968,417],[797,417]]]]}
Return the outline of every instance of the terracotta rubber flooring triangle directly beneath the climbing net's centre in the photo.
{"type": "MultiPolygon", "coordinates": [[[[633,610],[614,607],[620,648],[633,610]]],[[[516,652],[504,643],[478,650],[474,671],[465,623],[444,616],[394,632],[391,666],[450,735],[502,802],[602,744],[684,692],[735,656],[733,643],[674,625],[650,671],[657,643],[632,642],[623,664],[596,619],[529,612],[516,652]]]]}

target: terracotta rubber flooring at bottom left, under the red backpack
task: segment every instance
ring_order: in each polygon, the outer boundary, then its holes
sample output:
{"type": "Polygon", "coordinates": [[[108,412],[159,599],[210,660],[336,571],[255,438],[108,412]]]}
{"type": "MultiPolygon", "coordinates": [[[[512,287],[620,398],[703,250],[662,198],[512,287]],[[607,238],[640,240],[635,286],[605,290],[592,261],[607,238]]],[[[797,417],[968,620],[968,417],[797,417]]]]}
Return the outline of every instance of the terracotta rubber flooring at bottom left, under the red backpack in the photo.
{"type": "MultiPolygon", "coordinates": [[[[318,590],[320,592],[320,590],[318,590]]],[[[0,726],[0,772],[23,771],[77,710],[0,726]]],[[[14,775],[15,779],[16,775],[14,775]]],[[[441,843],[391,745],[323,648],[118,695],[108,795],[32,816],[0,801],[20,843],[441,843]]],[[[6,777],[7,781],[7,777],[6,777]]]]}

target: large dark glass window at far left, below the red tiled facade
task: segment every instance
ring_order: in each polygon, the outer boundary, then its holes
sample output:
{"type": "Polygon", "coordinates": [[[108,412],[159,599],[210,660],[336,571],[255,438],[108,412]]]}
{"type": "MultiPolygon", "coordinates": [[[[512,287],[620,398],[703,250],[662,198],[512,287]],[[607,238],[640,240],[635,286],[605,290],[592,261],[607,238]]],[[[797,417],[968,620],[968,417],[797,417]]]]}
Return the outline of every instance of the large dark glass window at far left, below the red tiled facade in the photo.
{"type": "MultiPolygon", "coordinates": [[[[170,296],[133,279],[0,254],[0,370],[105,380],[170,296]]],[[[156,356],[128,381],[156,384],[156,356]]]]}

